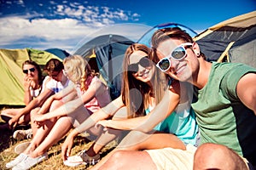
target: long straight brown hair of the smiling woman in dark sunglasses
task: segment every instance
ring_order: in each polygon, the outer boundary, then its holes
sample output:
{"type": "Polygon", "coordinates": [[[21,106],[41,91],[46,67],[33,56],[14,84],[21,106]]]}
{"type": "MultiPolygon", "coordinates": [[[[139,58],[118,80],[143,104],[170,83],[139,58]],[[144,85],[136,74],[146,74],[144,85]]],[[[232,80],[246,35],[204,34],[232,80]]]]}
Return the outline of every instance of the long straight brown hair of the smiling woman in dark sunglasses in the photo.
{"type": "MultiPolygon", "coordinates": [[[[123,60],[123,82],[122,82],[122,99],[127,107],[129,116],[143,116],[145,109],[149,106],[150,97],[153,95],[155,104],[157,105],[163,98],[166,89],[166,77],[155,67],[154,77],[151,80],[152,87],[146,82],[142,82],[133,77],[129,71],[130,56],[136,51],[143,51],[148,54],[148,58],[152,59],[151,49],[143,44],[134,43],[126,49],[123,60]],[[135,89],[135,90],[134,90],[135,89]],[[141,97],[140,97],[141,96],[141,97]]],[[[152,63],[154,66],[154,63],[152,63]]]]}

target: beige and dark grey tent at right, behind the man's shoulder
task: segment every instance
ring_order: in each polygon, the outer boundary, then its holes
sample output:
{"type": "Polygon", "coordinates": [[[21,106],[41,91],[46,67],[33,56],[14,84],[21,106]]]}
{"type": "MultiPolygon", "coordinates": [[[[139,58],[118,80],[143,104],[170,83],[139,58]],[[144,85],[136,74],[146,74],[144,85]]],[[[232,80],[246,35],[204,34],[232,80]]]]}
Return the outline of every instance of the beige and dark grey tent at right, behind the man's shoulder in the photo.
{"type": "Polygon", "coordinates": [[[256,67],[256,11],[220,22],[195,37],[210,61],[256,67]]]}

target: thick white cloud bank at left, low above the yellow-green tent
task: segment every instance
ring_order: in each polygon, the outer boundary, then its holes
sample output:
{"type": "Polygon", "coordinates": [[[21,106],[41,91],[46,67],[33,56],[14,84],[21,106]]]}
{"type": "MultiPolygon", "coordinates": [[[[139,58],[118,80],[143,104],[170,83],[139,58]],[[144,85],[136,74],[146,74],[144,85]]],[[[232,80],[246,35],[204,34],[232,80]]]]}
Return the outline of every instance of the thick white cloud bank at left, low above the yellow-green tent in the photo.
{"type": "Polygon", "coordinates": [[[48,43],[48,46],[44,48],[63,48],[66,46],[65,49],[70,50],[74,44],[92,31],[95,29],[79,24],[79,20],[73,19],[35,19],[29,21],[21,17],[0,18],[0,39],[3,45],[29,38],[42,41],[38,44],[26,42],[28,47],[45,46],[45,42],[48,43]]]}

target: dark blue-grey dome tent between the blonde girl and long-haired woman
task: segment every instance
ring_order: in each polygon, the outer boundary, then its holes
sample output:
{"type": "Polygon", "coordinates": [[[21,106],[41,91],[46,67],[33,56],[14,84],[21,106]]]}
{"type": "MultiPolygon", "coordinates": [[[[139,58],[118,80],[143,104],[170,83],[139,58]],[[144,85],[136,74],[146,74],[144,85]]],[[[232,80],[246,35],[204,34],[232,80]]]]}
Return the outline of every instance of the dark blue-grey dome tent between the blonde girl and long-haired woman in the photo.
{"type": "Polygon", "coordinates": [[[112,99],[120,94],[122,63],[126,48],[133,43],[119,35],[102,35],[91,39],[74,54],[89,60],[94,70],[98,70],[108,84],[112,99]]]}

